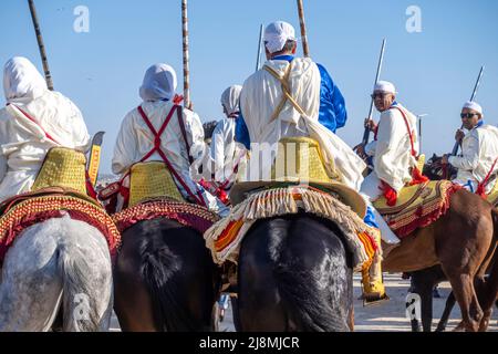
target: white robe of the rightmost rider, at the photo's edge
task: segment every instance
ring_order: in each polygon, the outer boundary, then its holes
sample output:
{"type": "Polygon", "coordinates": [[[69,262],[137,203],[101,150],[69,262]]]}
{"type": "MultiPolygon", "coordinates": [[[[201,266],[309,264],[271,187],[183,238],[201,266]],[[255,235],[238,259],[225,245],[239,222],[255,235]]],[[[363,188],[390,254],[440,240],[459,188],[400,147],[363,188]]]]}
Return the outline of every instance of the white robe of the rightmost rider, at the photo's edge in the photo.
{"type": "MultiPolygon", "coordinates": [[[[468,132],[461,142],[461,155],[450,156],[449,164],[458,168],[456,183],[473,184],[476,191],[477,184],[481,183],[490,171],[492,164],[498,158],[498,128],[491,125],[475,127],[468,132]]],[[[495,164],[494,173],[498,170],[495,164]]],[[[486,185],[486,192],[491,191],[496,179],[486,185]]]]}

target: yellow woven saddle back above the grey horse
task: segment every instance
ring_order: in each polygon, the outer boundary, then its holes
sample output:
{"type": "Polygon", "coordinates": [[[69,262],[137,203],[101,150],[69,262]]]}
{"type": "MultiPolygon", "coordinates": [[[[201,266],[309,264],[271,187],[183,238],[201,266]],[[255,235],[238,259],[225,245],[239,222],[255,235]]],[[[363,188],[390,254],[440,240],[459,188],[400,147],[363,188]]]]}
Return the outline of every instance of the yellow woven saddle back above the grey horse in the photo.
{"type": "Polygon", "coordinates": [[[52,187],[86,195],[86,157],[83,153],[66,147],[53,147],[46,153],[31,190],[52,187]]]}

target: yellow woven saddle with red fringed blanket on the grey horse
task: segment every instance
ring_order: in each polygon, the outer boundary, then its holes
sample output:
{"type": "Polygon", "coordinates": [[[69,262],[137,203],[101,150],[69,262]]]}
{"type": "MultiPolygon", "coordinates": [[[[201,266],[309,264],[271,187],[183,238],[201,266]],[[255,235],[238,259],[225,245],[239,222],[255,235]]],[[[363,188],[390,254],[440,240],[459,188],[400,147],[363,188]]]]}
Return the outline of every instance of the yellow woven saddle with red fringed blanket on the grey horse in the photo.
{"type": "Polygon", "coordinates": [[[64,147],[49,150],[30,192],[0,204],[0,264],[9,247],[25,228],[65,215],[101,231],[111,256],[121,244],[121,236],[102,205],[86,194],[86,158],[64,147]]]}

